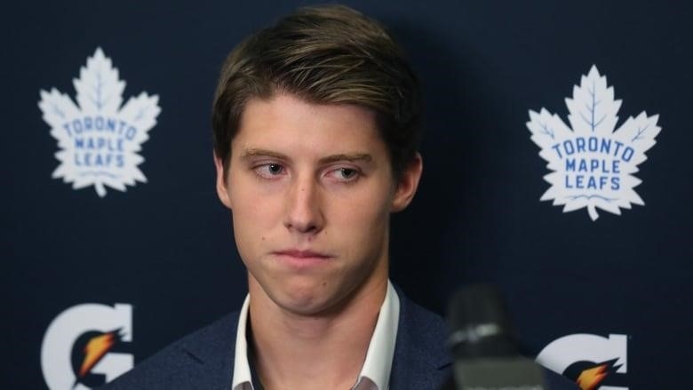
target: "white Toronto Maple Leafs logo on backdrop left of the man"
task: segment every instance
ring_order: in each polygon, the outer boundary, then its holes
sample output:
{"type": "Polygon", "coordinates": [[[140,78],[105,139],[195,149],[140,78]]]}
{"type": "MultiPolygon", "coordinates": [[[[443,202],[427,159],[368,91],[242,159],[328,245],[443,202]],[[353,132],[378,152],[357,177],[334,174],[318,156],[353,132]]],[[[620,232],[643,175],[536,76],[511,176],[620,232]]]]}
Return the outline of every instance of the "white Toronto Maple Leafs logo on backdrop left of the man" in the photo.
{"type": "Polygon", "coordinates": [[[94,186],[101,197],[107,186],[125,191],[126,185],[147,182],[138,168],[144,162],[138,152],[161,112],[159,97],[141,92],[121,107],[125,82],[100,48],[73,84],[78,106],[55,88],[40,92],[38,107],[60,147],[55,154],[60,165],[52,178],[75,189],[94,186]]]}

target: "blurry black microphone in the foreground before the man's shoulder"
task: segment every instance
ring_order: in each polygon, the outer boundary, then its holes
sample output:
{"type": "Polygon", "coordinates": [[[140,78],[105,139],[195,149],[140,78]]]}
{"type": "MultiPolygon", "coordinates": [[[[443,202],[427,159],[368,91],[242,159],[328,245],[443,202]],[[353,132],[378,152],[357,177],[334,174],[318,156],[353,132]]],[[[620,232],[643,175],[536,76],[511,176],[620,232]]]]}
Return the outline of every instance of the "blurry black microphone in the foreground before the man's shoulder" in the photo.
{"type": "Polygon", "coordinates": [[[453,377],[464,390],[545,390],[543,371],[516,347],[502,295],[490,284],[458,291],[448,310],[453,377]]]}

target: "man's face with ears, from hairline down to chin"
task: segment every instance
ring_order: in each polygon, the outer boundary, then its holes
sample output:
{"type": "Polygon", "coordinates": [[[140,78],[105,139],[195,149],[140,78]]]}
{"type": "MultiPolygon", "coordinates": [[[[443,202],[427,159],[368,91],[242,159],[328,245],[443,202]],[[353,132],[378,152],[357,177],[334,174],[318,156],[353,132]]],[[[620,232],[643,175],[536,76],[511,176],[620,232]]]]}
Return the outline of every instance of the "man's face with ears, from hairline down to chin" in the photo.
{"type": "Polygon", "coordinates": [[[410,203],[421,160],[395,181],[370,110],[251,99],[226,177],[215,163],[251,293],[318,314],[386,283],[389,214],[410,203]]]}

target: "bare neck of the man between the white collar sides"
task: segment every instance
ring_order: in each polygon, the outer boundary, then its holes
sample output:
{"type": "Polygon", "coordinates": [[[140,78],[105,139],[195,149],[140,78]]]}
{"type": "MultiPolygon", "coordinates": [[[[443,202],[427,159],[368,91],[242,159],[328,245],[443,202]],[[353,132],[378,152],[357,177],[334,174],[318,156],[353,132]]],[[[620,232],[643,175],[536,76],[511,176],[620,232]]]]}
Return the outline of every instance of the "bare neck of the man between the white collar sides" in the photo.
{"type": "Polygon", "coordinates": [[[386,277],[364,283],[338,309],[318,314],[276,305],[251,275],[249,288],[251,347],[267,390],[354,386],[385,299],[386,277]]]}

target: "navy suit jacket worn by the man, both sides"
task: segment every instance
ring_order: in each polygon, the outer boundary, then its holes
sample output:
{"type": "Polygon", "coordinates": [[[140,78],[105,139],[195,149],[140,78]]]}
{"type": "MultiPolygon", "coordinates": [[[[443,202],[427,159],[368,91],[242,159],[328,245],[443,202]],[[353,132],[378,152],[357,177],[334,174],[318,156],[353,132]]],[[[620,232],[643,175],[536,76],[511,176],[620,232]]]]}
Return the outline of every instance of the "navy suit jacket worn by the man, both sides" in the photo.
{"type": "MultiPolygon", "coordinates": [[[[392,390],[453,389],[452,359],[442,318],[400,296],[400,318],[390,373],[392,390]]],[[[105,390],[231,390],[238,313],[195,331],[100,387],[105,390]]],[[[577,389],[545,370],[548,389],[577,389]]]]}

